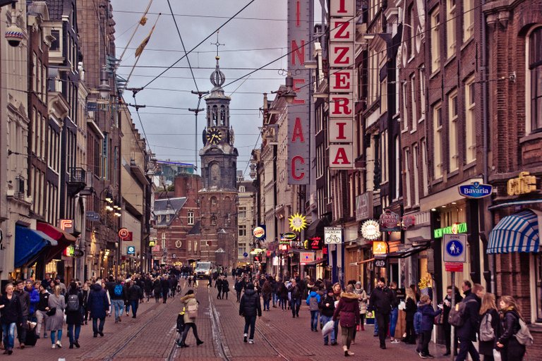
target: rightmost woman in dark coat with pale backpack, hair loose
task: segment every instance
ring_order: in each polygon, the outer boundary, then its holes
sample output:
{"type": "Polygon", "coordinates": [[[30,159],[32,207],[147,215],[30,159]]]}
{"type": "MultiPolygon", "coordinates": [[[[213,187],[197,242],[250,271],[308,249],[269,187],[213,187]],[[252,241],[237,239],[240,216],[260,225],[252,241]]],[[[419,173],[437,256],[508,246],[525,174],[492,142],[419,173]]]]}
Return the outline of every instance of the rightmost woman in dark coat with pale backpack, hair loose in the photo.
{"type": "Polygon", "coordinates": [[[531,345],[532,336],[529,329],[526,329],[517,302],[512,296],[502,296],[499,300],[499,308],[502,333],[496,345],[500,350],[501,359],[502,361],[521,361],[525,355],[525,345],[522,342],[531,345]],[[522,327],[522,322],[524,327],[522,327]],[[520,334],[525,336],[520,337],[520,334]],[[527,340],[530,340],[530,343],[527,340]]]}

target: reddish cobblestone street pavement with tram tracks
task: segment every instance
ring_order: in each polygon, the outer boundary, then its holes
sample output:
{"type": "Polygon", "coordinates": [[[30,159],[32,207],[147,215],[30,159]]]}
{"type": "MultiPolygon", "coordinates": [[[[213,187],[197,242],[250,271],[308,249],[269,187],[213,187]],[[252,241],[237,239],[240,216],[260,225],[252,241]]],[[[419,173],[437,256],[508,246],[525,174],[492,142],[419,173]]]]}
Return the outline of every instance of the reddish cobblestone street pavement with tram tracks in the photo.
{"type": "MultiPolygon", "coordinates": [[[[181,281],[183,294],[186,283],[181,281]]],[[[239,316],[239,304],[235,293],[229,300],[217,300],[217,290],[207,288],[207,282],[200,282],[196,298],[200,302],[200,314],[196,321],[198,334],[205,341],[196,346],[192,331],[188,334],[188,348],[176,347],[175,322],[181,309],[179,295],[169,299],[167,305],[162,301],[140,304],[138,318],[124,316],[120,324],[114,324],[108,317],[104,327],[104,337],[92,337],[92,326],[82,326],[79,343],[81,348],[68,349],[69,341],[64,327],[61,349],[51,349],[49,338],[40,339],[35,347],[24,350],[16,348],[13,355],[0,355],[2,360],[13,361],[58,361],[71,360],[335,360],[343,358],[340,345],[323,345],[320,332],[310,329],[310,313],[306,305],[301,305],[299,318],[292,318],[289,310],[271,308],[263,312],[256,322],[255,344],[243,343],[244,319],[239,316]]],[[[340,332],[340,331],[339,331],[340,332]]],[[[16,342],[16,346],[18,343],[16,342]]],[[[360,331],[356,343],[351,345],[355,353],[351,360],[390,360],[400,357],[402,361],[420,360],[414,345],[387,343],[387,350],[378,348],[378,338],[373,337],[373,326],[360,331]]],[[[442,347],[431,344],[430,352],[435,356],[444,353],[442,347]]],[[[447,357],[437,357],[448,360],[447,357]]]]}

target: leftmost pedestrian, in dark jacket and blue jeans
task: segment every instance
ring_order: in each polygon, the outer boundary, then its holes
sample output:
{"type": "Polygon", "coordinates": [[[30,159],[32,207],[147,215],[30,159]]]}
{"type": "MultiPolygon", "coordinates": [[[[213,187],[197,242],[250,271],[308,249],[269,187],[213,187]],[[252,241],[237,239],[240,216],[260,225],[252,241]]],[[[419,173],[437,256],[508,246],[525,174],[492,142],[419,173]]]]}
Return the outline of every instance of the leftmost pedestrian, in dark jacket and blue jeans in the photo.
{"type": "Polygon", "coordinates": [[[0,323],[4,336],[4,355],[11,355],[15,344],[15,329],[23,322],[23,312],[17,295],[13,293],[13,283],[8,283],[4,290],[6,293],[0,298],[0,323]]]}

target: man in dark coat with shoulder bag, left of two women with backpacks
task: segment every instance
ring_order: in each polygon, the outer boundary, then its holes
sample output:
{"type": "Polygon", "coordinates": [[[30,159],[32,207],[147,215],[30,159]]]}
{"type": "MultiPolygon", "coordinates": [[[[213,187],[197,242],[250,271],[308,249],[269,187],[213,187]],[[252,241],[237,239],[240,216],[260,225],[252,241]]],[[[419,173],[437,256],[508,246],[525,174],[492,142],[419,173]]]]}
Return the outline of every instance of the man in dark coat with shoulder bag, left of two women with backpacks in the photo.
{"type": "Polygon", "coordinates": [[[483,293],[483,287],[478,283],[474,284],[471,289],[469,281],[463,282],[463,293],[465,295],[462,302],[466,302],[463,312],[462,326],[456,329],[457,337],[459,338],[459,353],[455,357],[455,361],[466,360],[466,354],[470,353],[473,361],[480,361],[478,350],[474,347],[473,341],[476,341],[476,332],[478,331],[478,318],[481,306],[481,298],[478,294],[483,293]]]}

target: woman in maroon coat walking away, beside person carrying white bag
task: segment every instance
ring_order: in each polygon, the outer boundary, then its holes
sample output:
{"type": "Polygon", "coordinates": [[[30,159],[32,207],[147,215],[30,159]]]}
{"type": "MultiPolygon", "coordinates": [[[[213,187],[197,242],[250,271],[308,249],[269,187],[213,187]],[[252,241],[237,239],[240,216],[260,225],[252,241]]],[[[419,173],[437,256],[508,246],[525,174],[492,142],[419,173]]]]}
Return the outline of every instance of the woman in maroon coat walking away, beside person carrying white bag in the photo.
{"type": "Polygon", "coordinates": [[[353,356],[350,351],[350,343],[354,336],[354,330],[359,323],[358,296],[354,293],[354,286],[347,286],[346,292],[341,294],[341,299],[333,313],[333,320],[339,319],[341,325],[342,350],[344,356],[353,356]]]}

